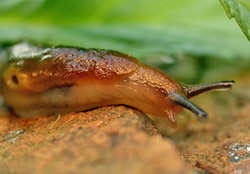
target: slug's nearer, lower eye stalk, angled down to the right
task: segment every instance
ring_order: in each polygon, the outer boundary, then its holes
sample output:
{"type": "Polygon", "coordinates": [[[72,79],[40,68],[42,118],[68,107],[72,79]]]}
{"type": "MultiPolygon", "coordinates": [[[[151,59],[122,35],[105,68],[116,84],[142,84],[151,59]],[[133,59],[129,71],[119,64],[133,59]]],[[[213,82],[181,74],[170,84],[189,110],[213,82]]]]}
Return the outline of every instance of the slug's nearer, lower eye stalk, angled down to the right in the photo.
{"type": "Polygon", "coordinates": [[[180,105],[193,112],[199,121],[205,121],[207,119],[207,113],[196,106],[194,103],[189,101],[186,97],[171,92],[169,93],[168,98],[175,104],[180,105]]]}

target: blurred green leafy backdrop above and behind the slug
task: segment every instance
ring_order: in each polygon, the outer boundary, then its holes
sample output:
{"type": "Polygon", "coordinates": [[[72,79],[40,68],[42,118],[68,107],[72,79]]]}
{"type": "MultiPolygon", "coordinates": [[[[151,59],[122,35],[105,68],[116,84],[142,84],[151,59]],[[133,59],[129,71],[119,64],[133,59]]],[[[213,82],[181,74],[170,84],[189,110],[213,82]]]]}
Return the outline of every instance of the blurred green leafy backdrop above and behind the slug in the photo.
{"type": "Polygon", "coordinates": [[[250,69],[219,0],[0,0],[0,48],[22,40],[121,51],[191,84],[250,69]]]}

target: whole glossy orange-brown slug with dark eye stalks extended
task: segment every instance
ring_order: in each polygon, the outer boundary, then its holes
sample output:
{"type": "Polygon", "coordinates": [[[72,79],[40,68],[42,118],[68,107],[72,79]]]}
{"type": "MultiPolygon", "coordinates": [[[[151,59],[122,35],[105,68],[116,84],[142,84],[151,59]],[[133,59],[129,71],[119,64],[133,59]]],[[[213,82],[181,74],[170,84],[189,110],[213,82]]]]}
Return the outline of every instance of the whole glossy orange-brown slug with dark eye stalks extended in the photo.
{"type": "Polygon", "coordinates": [[[176,114],[183,107],[200,121],[207,117],[189,98],[234,84],[181,85],[157,68],[110,50],[45,48],[22,42],[0,57],[0,94],[24,118],[128,105],[166,117],[175,128],[176,114]]]}

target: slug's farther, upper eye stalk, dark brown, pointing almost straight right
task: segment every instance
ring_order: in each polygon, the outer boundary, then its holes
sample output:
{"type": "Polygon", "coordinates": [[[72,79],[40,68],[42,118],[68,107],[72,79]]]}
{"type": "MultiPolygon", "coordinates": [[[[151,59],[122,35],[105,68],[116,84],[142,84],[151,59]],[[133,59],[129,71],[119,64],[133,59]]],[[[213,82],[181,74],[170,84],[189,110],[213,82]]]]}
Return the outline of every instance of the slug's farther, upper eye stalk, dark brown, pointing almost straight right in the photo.
{"type": "Polygon", "coordinates": [[[194,97],[201,93],[211,91],[211,90],[229,90],[233,87],[235,81],[220,81],[215,83],[209,83],[197,86],[184,86],[187,98],[194,97]]]}

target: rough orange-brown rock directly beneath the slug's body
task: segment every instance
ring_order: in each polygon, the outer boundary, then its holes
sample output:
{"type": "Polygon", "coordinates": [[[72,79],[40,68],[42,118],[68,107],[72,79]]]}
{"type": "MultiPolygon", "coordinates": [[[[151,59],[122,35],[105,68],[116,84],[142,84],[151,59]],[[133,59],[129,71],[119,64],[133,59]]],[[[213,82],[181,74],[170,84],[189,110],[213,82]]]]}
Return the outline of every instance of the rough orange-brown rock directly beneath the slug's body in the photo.
{"type": "Polygon", "coordinates": [[[0,173],[187,173],[152,121],[123,106],[0,118],[0,173]]]}

